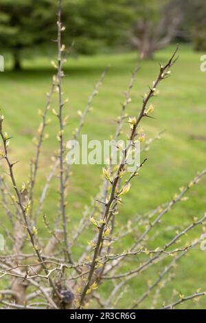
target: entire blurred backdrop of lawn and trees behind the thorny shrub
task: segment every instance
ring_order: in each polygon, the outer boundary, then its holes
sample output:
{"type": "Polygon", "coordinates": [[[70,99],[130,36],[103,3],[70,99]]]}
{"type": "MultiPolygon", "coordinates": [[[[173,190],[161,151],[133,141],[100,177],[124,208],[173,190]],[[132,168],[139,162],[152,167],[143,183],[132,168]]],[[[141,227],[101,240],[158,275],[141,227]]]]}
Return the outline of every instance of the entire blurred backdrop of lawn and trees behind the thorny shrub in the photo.
{"type": "MultiPolygon", "coordinates": [[[[140,65],[128,115],[135,115],[141,107],[142,96],[155,80],[159,63],[165,63],[179,43],[179,60],[172,68],[172,75],[160,87],[155,98],[155,120],[144,120],[146,140],[164,131],[160,141],[155,141],[141,158],[148,162],[141,176],[133,182],[130,194],[122,205],[119,225],[132,216],[145,214],[158,205],[170,201],[179,187],[185,186],[198,171],[205,168],[205,112],[206,74],[200,69],[201,56],[206,54],[206,2],[205,0],[63,0],[62,21],[66,30],[63,43],[73,48],[65,65],[63,81],[65,98],[69,104],[69,126],[65,139],[71,139],[79,122],[77,111],[83,111],[93,86],[105,67],[110,66],[106,78],[93,101],[82,133],[89,139],[106,140],[115,133],[116,118],[124,102],[124,92],[135,65],[140,65]]],[[[30,175],[30,159],[34,157],[32,139],[36,136],[40,117],[38,109],[45,107],[45,93],[55,73],[50,60],[56,58],[56,10],[55,0],[0,0],[0,55],[5,58],[5,71],[0,73],[0,108],[5,116],[5,130],[13,137],[10,153],[21,162],[16,165],[19,183],[27,182],[30,175]]],[[[53,98],[52,108],[56,108],[53,98]]],[[[58,124],[52,123],[47,131],[49,139],[41,154],[36,199],[45,183],[52,164],[51,157],[58,147],[58,124]]],[[[124,137],[127,133],[124,129],[124,137]]],[[[98,193],[102,166],[73,167],[69,184],[67,212],[69,225],[76,225],[85,205],[98,193]]],[[[58,212],[58,179],[54,179],[43,212],[54,219],[58,212]]],[[[205,212],[205,184],[203,179],[188,194],[188,201],[179,203],[159,225],[157,236],[150,237],[148,248],[162,246],[170,241],[174,229],[191,223],[194,216],[205,212]],[[169,229],[168,229],[169,228],[169,229]],[[171,230],[170,230],[171,229],[171,230]]],[[[20,184],[21,185],[21,184],[20,184]]],[[[1,223],[8,225],[4,214],[1,223]]],[[[2,225],[1,225],[2,228],[2,225]]],[[[45,234],[43,221],[38,229],[45,234]]],[[[2,229],[3,230],[3,229],[2,229]]],[[[0,232],[1,233],[1,232],[0,232]]],[[[188,237],[199,237],[192,232],[188,237]]],[[[87,234],[82,237],[80,254],[87,234]]],[[[124,249],[130,245],[124,241],[124,249]]],[[[117,250],[119,252],[119,250],[117,250]]],[[[205,252],[196,247],[190,257],[185,257],[176,269],[176,278],[163,289],[161,301],[168,300],[175,292],[187,295],[201,287],[206,290],[205,252]]],[[[135,260],[135,261],[138,261],[135,260]]],[[[130,268],[135,263],[130,264],[130,268]]],[[[137,290],[144,291],[149,280],[159,273],[159,266],[148,271],[148,277],[131,280],[127,297],[119,307],[127,308],[137,298],[137,290]]],[[[111,288],[106,285],[103,289],[111,288]]],[[[149,302],[149,300],[148,300],[149,302]]],[[[143,304],[147,306],[148,304],[143,304]]],[[[205,300],[184,305],[189,308],[205,308],[205,300]]]]}

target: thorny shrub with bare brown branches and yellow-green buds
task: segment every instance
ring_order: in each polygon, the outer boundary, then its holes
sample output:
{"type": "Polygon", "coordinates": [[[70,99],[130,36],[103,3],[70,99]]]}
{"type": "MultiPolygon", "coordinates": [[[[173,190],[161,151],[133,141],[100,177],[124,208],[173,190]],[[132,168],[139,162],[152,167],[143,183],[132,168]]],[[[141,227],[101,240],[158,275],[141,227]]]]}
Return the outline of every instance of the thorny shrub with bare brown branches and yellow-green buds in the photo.
{"type": "MultiPolygon", "coordinates": [[[[130,90],[137,73],[137,68],[135,68],[125,94],[115,133],[115,138],[118,138],[123,123],[128,122],[130,144],[124,148],[123,159],[118,166],[113,166],[110,163],[108,168],[103,169],[101,190],[95,201],[85,210],[78,227],[74,229],[70,225],[68,226],[66,208],[70,166],[65,161],[64,129],[67,124],[67,117],[63,113],[67,102],[63,100],[62,78],[64,77],[63,65],[68,51],[61,43],[61,34],[65,29],[61,22],[61,7],[58,11],[57,26],[58,59],[57,63],[52,63],[56,68],[56,75],[53,77],[52,87],[47,93],[45,111],[40,113],[42,121],[38,129],[38,137],[34,140],[36,155],[31,163],[30,185],[28,187],[23,184],[19,188],[16,183],[14,174],[16,162],[10,159],[9,153],[10,137],[4,132],[3,115],[0,118],[1,160],[4,161],[7,168],[6,172],[12,183],[12,188],[10,188],[7,177],[1,176],[2,205],[10,219],[12,228],[11,232],[6,232],[8,238],[11,238],[12,247],[5,249],[0,257],[1,280],[3,280],[5,286],[5,289],[1,290],[1,306],[16,309],[115,308],[118,306],[119,299],[124,295],[125,287],[130,280],[136,278],[139,274],[147,275],[148,269],[159,263],[162,268],[157,280],[149,284],[145,291],[137,291],[137,300],[130,304],[132,309],[138,308],[156,289],[155,298],[151,300],[150,304],[150,307],[156,307],[161,289],[174,278],[172,274],[174,266],[201,242],[201,238],[196,238],[190,243],[181,243],[179,247],[176,247],[176,243],[196,227],[203,226],[206,214],[201,219],[194,218],[189,225],[183,225],[178,232],[176,232],[175,227],[172,228],[170,241],[157,249],[148,248],[149,234],[151,232],[154,232],[157,236],[161,234],[158,227],[163,216],[170,212],[177,203],[187,199],[185,194],[200,181],[206,170],[198,173],[186,186],[180,188],[171,201],[168,201],[165,205],[160,205],[148,214],[131,218],[124,227],[118,226],[116,218],[117,214],[121,212],[124,195],[129,194],[130,183],[135,180],[139,173],[141,174],[146,162],[144,160],[137,165],[134,172],[128,173],[126,160],[129,145],[133,145],[135,141],[142,141],[142,138],[144,138],[140,129],[141,121],[152,118],[153,106],[150,104],[150,100],[158,95],[159,83],[170,76],[170,68],[176,61],[177,49],[166,65],[160,65],[157,78],[144,96],[137,116],[128,119],[126,109],[130,103],[130,90]],[[38,197],[39,203],[34,205],[34,187],[38,176],[39,158],[45,140],[49,105],[54,92],[58,93],[58,109],[54,109],[53,113],[56,115],[59,124],[59,150],[54,157],[54,165],[47,177],[41,197],[38,197]],[[45,196],[56,171],[59,178],[59,212],[56,219],[53,215],[53,223],[49,223],[46,214],[43,216],[45,229],[49,232],[49,238],[45,241],[45,237],[38,232],[36,220],[38,215],[43,212],[45,196]],[[84,247],[83,254],[78,257],[73,254],[72,247],[78,245],[78,240],[84,230],[92,233],[93,238],[89,245],[84,247]],[[127,250],[122,247],[124,236],[130,236],[132,241],[127,250]],[[118,253],[115,250],[118,250],[118,253]],[[130,259],[136,256],[139,257],[138,265],[135,263],[135,267],[128,270],[130,259]],[[165,267],[165,261],[168,258],[170,261],[167,262],[165,267]],[[108,287],[106,298],[102,298],[101,289],[106,282],[112,282],[113,289],[111,290],[108,287]]],[[[79,113],[80,124],[73,135],[76,140],[78,140],[84,120],[91,108],[91,102],[98,93],[104,75],[105,72],[95,85],[85,111],[79,113]]],[[[146,150],[151,143],[147,142],[142,149],[146,150]]],[[[177,300],[172,300],[172,302],[168,300],[169,304],[165,303],[163,308],[174,308],[181,302],[204,295],[205,292],[199,290],[187,297],[180,293],[177,300]]]]}

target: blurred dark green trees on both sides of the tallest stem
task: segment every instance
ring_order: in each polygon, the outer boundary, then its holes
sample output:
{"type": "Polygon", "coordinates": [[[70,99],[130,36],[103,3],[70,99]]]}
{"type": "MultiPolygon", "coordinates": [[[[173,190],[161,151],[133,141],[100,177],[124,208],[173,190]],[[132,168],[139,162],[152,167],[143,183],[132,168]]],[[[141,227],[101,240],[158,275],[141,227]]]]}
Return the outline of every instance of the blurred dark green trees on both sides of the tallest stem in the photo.
{"type": "MultiPolygon", "coordinates": [[[[21,52],[56,38],[57,0],[0,0],[0,45],[13,54],[14,69],[21,69],[21,52]]],[[[93,54],[122,36],[133,17],[127,0],[64,0],[64,41],[76,41],[75,50],[93,54]]]]}

